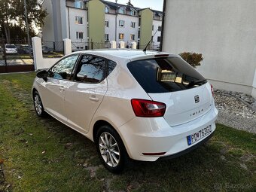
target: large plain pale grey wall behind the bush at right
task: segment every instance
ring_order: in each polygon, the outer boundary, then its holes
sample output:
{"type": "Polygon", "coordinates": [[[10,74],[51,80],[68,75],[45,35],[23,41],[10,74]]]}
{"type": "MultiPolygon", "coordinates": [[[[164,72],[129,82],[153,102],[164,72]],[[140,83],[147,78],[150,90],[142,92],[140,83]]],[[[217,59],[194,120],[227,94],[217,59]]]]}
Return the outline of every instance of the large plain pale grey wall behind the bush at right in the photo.
{"type": "Polygon", "coordinates": [[[256,86],[255,10],[254,0],[168,0],[163,50],[203,53],[198,70],[215,87],[251,94],[253,82],[256,86]]]}

